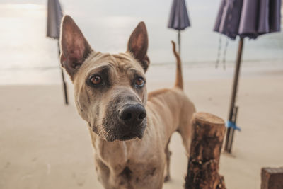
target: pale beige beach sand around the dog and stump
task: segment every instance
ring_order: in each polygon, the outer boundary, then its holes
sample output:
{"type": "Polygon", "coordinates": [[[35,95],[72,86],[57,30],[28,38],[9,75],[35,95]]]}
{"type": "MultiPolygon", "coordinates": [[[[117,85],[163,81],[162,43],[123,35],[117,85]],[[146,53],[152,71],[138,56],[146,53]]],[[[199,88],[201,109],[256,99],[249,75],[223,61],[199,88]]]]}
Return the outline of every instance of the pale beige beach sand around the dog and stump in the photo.
{"type": "MultiPolygon", "coordinates": [[[[148,82],[149,91],[172,85],[148,82]]],[[[231,79],[185,81],[185,91],[198,111],[226,120],[231,79]]],[[[0,93],[1,189],[102,188],[86,123],[73,98],[70,105],[63,104],[61,86],[0,86],[0,93]]],[[[237,104],[242,131],[236,132],[233,154],[221,154],[227,188],[260,188],[260,168],[283,165],[282,97],[282,74],[241,78],[237,104]]],[[[187,159],[178,134],[170,148],[172,180],[163,188],[183,188],[187,159]]]]}

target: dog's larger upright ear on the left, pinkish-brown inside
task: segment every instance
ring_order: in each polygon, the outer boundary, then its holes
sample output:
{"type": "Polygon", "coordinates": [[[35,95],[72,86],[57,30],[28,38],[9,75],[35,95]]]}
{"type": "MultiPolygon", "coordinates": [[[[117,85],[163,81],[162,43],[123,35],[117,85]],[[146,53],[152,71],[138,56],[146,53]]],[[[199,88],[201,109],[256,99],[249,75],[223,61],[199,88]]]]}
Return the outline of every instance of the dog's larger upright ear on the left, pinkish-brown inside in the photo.
{"type": "Polygon", "coordinates": [[[63,18],[60,47],[60,62],[73,80],[74,74],[92,50],[71,16],[63,18]]]}

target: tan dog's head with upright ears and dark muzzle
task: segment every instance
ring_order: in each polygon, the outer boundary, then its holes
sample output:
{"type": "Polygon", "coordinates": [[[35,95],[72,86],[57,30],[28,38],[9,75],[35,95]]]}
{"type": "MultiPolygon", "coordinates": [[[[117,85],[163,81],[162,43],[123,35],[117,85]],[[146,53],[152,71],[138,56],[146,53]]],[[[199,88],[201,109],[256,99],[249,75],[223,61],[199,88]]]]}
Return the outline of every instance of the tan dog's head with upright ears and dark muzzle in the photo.
{"type": "Polygon", "coordinates": [[[129,37],[117,55],[92,50],[70,16],[64,16],[61,64],[74,84],[76,108],[93,132],[107,141],[143,137],[146,127],[146,78],[149,67],[146,25],[129,37]]]}

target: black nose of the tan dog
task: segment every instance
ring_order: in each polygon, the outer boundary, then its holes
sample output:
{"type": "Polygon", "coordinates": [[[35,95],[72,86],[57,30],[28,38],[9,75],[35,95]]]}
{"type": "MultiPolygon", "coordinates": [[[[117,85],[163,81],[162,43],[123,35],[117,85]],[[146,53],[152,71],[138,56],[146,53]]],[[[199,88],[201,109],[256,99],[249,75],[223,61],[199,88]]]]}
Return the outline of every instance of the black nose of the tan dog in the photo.
{"type": "Polygon", "coordinates": [[[119,112],[119,117],[127,126],[139,125],[146,118],[146,110],[141,104],[124,105],[119,112]]]}

